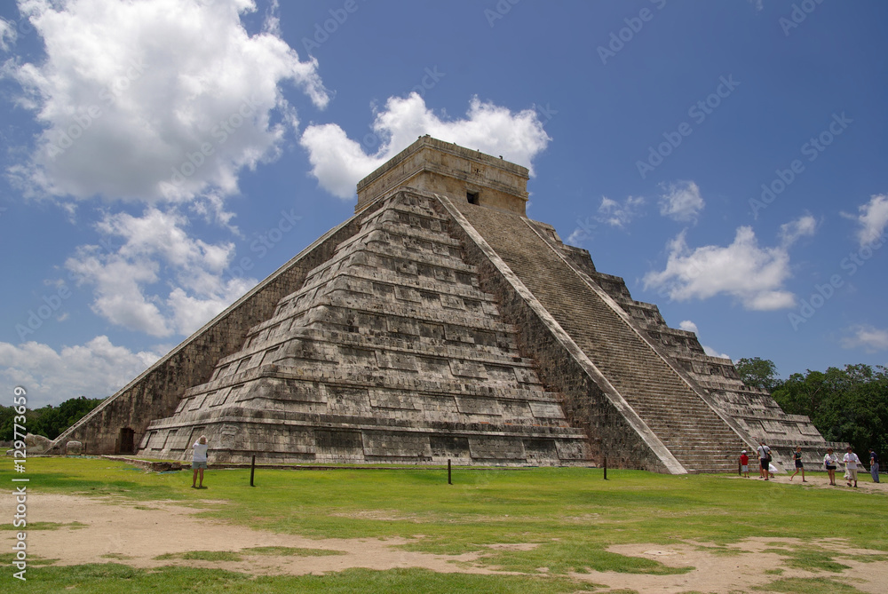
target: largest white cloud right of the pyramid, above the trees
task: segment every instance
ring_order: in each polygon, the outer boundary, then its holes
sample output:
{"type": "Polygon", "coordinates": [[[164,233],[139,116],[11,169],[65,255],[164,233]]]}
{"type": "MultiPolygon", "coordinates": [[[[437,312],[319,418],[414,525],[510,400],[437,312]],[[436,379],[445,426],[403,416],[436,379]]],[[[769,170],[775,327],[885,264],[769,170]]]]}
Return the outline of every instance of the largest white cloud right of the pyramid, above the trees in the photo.
{"type": "Polygon", "coordinates": [[[737,229],[733,243],[690,249],[685,232],[669,244],[669,260],[662,272],[646,273],[645,288],[662,291],[678,301],[730,295],[749,310],[791,307],[795,296],[783,289],[790,276],[786,246],[759,248],[749,226],[737,229]]]}

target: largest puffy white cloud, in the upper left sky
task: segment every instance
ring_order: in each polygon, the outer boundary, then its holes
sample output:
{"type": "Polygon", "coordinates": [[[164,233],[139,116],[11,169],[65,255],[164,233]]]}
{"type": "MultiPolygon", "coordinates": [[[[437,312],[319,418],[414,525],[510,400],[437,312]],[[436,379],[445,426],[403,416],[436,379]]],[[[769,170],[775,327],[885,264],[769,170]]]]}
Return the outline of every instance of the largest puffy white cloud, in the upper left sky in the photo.
{"type": "Polygon", "coordinates": [[[328,101],[317,62],[300,62],[273,22],[247,33],[241,16],[255,10],[252,0],[20,0],[46,56],[4,72],[44,131],[10,177],[33,195],[235,193],[239,171],[274,159],[297,124],[281,83],[328,101]]]}

